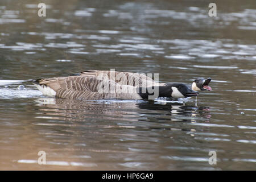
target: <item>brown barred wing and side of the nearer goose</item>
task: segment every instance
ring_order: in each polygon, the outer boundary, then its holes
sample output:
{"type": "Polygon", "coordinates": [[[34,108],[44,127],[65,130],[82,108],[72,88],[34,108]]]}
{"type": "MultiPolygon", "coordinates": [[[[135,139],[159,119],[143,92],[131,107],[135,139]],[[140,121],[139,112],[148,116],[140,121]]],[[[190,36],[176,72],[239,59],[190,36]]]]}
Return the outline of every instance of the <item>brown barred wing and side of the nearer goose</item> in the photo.
{"type": "Polygon", "coordinates": [[[141,99],[136,94],[135,87],[119,85],[113,80],[102,77],[55,77],[38,80],[38,82],[40,85],[46,85],[55,90],[55,96],[59,98],[72,100],[141,99]],[[117,89],[123,90],[117,92],[117,89]],[[123,93],[123,91],[126,92],[123,93]]]}

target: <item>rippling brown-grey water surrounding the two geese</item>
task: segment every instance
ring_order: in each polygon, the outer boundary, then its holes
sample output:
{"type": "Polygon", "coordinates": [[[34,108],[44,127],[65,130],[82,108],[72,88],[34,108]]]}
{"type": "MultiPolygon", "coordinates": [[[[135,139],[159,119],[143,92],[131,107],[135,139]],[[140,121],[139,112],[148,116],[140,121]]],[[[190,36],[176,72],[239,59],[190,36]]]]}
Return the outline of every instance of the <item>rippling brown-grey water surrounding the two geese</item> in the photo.
{"type": "Polygon", "coordinates": [[[207,1],[44,2],[41,18],[35,1],[0,2],[0,169],[256,169],[255,0],[215,1],[217,17],[207,1]],[[79,102],[26,81],[110,68],[212,77],[213,92],[79,102]]]}

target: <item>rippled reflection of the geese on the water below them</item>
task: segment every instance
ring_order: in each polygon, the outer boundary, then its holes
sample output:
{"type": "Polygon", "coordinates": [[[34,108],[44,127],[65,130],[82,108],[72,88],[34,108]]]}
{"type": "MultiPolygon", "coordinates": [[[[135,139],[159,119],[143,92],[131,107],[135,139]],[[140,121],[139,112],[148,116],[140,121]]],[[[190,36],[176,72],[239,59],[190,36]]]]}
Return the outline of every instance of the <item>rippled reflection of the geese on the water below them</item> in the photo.
{"type": "MultiPolygon", "coordinates": [[[[59,98],[39,98],[38,106],[46,106],[38,114],[44,114],[38,118],[50,118],[64,121],[77,121],[77,119],[98,118],[104,121],[148,121],[148,117],[154,116],[155,121],[187,121],[196,122],[196,118],[210,118],[209,107],[196,107],[180,104],[155,104],[147,101],[72,101],[59,98]],[[137,109],[140,109],[139,112],[137,109]],[[46,116],[47,115],[47,116],[46,116]],[[49,117],[52,115],[52,117],[49,117]],[[136,116],[143,115],[144,119],[136,116]],[[163,117],[166,117],[164,118],[163,117]],[[75,118],[73,118],[73,117],[75,118]],[[122,118],[120,118],[122,116],[122,118]]],[[[150,118],[152,119],[152,118],[150,118]]]]}

